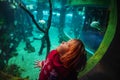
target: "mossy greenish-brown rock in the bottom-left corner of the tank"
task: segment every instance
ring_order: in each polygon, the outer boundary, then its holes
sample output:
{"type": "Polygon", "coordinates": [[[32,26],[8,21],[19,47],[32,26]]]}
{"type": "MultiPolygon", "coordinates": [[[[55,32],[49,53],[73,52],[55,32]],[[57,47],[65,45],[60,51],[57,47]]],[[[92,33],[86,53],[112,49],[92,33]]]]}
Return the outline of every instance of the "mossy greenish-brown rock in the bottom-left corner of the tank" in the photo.
{"type": "Polygon", "coordinates": [[[3,71],[0,71],[0,80],[29,80],[29,77],[21,78],[20,75],[24,69],[20,68],[16,64],[4,67],[3,71]]]}

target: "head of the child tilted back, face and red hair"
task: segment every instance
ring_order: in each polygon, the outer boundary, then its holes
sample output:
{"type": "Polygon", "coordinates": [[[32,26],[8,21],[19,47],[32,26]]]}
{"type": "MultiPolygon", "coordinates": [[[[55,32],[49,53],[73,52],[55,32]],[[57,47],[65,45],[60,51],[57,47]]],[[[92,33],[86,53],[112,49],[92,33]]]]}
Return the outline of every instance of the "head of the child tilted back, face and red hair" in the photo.
{"type": "Polygon", "coordinates": [[[74,70],[81,70],[86,64],[85,47],[81,40],[72,39],[61,43],[57,51],[64,67],[74,70]]]}

